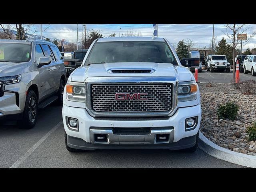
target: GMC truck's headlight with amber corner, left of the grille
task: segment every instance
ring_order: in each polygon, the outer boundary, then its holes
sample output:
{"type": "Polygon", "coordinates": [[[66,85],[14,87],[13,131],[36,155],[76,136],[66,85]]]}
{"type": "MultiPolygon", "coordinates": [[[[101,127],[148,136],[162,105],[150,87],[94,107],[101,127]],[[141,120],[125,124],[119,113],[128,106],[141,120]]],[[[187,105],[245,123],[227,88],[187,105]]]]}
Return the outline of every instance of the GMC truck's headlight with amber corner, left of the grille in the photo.
{"type": "Polygon", "coordinates": [[[68,81],[66,84],[66,98],[68,101],[85,102],[85,84],[68,81]]]}

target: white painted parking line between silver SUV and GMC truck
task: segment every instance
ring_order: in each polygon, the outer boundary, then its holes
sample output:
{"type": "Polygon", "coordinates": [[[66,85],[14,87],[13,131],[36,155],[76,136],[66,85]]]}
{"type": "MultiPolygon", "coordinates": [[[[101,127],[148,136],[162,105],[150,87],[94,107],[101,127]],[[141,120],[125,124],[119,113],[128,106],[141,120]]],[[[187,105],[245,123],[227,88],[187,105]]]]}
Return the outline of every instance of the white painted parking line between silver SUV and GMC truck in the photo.
{"type": "Polygon", "coordinates": [[[42,144],[42,142],[44,142],[57,128],[60,127],[60,125],[62,125],[63,121],[61,120],[60,122],[58,122],[58,124],[56,126],[54,126],[48,133],[46,133],[36,144],[34,144],[24,155],[22,155],[12,166],[10,166],[10,168],[17,168],[24,160],[26,160],[26,158],[28,158],[28,156],[30,156],[30,154],[36,150],[36,148],[38,148],[40,146],[40,144],[42,144]]]}

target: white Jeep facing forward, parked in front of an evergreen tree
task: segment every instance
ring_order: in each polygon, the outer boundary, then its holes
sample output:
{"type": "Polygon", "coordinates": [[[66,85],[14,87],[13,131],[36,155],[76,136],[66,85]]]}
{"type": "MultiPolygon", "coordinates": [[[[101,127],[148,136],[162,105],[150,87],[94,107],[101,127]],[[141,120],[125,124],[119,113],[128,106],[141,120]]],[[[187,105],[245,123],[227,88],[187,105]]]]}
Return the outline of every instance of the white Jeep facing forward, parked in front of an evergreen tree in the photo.
{"type": "Polygon", "coordinates": [[[226,55],[211,55],[207,62],[207,71],[214,72],[214,70],[230,72],[230,63],[227,61],[226,55]]]}

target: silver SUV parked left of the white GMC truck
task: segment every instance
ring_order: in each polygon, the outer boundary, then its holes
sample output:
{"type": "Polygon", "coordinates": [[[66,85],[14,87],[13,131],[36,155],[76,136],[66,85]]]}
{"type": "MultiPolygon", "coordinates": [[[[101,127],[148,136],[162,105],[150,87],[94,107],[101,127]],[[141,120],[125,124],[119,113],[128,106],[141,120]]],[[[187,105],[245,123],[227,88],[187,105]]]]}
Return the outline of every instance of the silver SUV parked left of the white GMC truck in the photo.
{"type": "Polygon", "coordinates": [[[0,121],[36,124],[38,108],[62,104],[66,80],[57,46],[40,40],[0,40],[0,121]]]}

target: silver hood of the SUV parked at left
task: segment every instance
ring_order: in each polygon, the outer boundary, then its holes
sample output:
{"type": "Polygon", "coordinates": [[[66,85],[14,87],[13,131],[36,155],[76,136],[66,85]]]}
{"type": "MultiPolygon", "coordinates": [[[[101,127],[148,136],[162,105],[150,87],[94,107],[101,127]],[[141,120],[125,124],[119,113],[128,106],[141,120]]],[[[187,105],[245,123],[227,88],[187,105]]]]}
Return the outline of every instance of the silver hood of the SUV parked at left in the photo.
{"type": "Polygon", "coordinates": [[[0,77],[19,75],[20,68],[26,65],[28,65],[27,62],[23,62],[23,63],[0,62],[0,77]]]}

